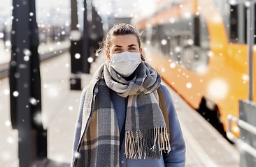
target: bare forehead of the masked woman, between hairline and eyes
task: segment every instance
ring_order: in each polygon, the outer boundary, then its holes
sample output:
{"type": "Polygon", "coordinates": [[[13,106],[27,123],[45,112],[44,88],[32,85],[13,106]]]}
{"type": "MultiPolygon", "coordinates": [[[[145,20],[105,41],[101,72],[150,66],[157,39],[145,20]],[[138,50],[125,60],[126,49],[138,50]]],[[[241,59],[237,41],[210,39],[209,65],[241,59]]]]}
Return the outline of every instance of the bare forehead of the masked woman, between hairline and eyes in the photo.
{"type": "Polygon", "coordinates": [[[111,37],[111,46],[119,45],[119,46],[128,46],[131,44],[135,44],[138,46],[138,40],[136,35],[113,35],[111,37]]]}

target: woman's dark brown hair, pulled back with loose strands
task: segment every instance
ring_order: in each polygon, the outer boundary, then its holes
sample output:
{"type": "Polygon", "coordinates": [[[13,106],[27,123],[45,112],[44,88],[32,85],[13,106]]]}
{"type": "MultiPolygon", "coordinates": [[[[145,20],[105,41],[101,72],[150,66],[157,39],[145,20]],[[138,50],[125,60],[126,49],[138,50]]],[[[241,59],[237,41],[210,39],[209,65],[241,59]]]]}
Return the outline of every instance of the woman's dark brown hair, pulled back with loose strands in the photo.
{"type": "MultiPolygon", "coordinates": [[[[141,33],[139,33],[134,26],[131,26],[130,24],[127,23],[120,23],[116,24],[115,26],[112,27],[112,29],[107,33],[106,38],[99,43],[101,46],[97,52],[106,50],[109,53],[110,45],[111,45],[111,37],[113,35],[136,35],[136,38],[138,40],[138,47],[141,48],[141,33]]],[[[145,61],[145,53],[142,50],[141,51],[141,60],[145,61]]]]}

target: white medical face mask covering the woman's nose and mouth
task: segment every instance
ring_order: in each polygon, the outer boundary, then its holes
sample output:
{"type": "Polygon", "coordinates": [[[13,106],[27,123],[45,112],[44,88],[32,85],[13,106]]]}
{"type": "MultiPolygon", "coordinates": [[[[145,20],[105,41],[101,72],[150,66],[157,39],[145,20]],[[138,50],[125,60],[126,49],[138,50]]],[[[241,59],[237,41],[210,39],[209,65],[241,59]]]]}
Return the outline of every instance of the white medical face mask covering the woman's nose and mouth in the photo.
{"type": "Polygon", "coordinates": [[[111,55],[111,67],[123,77],[129,77],[141,63],[139,52],[124,51],[111,55]]]}

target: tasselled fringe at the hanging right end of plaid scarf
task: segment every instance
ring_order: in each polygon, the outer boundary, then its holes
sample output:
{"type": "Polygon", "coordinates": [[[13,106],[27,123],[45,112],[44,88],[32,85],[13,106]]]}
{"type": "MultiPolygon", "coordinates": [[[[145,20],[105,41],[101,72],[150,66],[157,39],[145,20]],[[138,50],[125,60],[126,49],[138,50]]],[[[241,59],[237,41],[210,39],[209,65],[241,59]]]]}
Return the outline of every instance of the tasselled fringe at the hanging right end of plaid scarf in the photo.
{"type": "Polygon", "coordinates": [[[171,151],[171,145],[166,127],[156,127],[143,131],[125,133],[125,156],[129,159],[146,157],[160,159],[162,152],[171,151]]]}

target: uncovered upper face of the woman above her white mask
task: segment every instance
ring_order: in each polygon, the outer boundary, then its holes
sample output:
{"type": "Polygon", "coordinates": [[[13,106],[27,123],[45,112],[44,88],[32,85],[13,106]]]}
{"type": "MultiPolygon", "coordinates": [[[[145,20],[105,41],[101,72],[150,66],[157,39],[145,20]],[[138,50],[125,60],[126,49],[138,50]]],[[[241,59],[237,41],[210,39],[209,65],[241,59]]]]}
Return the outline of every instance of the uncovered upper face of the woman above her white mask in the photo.
{"type": "MultiPolygon", "coordinates": [[[[123,51],[141,52],[141,48],[138,47],[136,35],[113,35],[110,42],[110,54],[118,54],[123,51]]],[[[110,61],[111,57],[108,51],[106,51],[106,56],[108,57],[108,61],[110,61]]]]}

